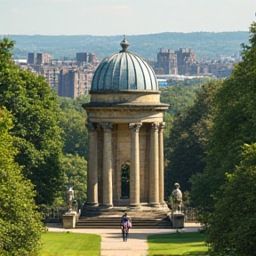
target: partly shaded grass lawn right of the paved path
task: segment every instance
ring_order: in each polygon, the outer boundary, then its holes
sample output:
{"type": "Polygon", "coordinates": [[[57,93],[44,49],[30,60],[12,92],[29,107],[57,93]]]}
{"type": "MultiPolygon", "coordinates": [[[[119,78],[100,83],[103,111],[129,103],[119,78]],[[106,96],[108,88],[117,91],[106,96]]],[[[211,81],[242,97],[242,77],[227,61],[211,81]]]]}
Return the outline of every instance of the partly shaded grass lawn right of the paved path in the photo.
{"type": "Polygon", "coordinates": [[[205,239],[199,232],[148,236],[149,255],[207,255],[205,239]]]}

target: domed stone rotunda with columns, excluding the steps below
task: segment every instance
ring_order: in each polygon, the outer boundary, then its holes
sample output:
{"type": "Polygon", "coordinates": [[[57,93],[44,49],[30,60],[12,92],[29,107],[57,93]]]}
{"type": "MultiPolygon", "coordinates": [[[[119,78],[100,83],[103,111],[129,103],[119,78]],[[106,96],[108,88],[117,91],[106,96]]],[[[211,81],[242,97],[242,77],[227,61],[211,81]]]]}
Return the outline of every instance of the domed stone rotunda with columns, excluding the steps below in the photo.
{"type": "Polygon", "coordinates": [[[86,205],[164,204],[164,111],[153,68],[122,51],[95,71],[91,102],[84,104],[90,148],[86,205]]]}

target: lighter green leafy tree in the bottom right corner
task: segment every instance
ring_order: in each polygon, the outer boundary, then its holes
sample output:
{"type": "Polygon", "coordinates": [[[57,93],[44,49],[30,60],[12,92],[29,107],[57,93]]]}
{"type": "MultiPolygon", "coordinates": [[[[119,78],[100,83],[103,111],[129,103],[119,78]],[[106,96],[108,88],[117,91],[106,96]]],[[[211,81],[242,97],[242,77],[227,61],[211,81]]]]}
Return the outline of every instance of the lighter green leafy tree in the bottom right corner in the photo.
{"type": "Polygon", "coordinates": [[[242,162],[215,196],[208,244],[211,255],[256,251],[256,143],[244,145],[242,162]]]}

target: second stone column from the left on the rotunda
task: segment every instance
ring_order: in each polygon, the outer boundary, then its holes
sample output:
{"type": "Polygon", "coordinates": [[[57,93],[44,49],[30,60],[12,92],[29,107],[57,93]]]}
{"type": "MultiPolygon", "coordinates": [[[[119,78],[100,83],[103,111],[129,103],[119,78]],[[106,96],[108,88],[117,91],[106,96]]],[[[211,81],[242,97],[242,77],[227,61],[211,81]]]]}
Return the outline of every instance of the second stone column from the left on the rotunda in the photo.
{"type": "Polygon", "coordinates": [[[101,123],[104,132],[103,139],[103,201],[102,206],[113,206],[112,192],[112,124],[101,123]]]}

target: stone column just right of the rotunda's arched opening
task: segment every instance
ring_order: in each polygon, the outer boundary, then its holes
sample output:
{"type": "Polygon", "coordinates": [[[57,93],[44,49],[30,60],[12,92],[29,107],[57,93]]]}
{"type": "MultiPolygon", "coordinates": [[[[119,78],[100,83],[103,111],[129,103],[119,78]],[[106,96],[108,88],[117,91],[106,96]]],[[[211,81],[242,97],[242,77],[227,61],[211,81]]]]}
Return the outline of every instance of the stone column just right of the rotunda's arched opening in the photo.
{"type": "Polygon", "coordinates": [[[131,166],[130,166],[130,205],[140,205],[140,143],[139,130],[141,123],[131,123],[131,166]]]}

